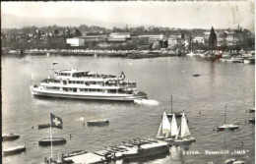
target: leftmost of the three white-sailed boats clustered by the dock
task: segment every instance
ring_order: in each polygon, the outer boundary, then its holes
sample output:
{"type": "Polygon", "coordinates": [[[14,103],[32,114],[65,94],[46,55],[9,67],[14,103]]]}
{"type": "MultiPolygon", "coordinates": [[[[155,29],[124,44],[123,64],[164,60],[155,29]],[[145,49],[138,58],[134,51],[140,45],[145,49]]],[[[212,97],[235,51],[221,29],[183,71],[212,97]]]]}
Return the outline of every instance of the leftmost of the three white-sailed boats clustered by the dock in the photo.
{"type": "Polygon", "coordinates": [[[160,128],[157,135],[158,139],[164,139],[170,136],[170,124],[164,111],[161,117],[160,128]]]}

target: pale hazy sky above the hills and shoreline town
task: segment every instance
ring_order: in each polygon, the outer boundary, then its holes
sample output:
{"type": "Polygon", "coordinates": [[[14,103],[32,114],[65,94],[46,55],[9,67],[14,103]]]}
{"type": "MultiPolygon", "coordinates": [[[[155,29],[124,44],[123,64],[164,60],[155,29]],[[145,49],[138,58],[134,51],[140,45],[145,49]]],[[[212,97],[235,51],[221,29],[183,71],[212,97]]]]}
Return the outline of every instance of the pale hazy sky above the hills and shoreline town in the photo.
{"type": "Polygon", "coordinates": [[[54,19],[56,25],[60,19],[74,18],[134,27],[225,28],[239,24],[254,30],[255,25],[252,1],[1,2],[2,27],[16,27],[9,15],[27,20],[54,19]]]}

